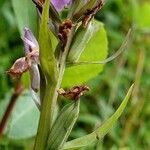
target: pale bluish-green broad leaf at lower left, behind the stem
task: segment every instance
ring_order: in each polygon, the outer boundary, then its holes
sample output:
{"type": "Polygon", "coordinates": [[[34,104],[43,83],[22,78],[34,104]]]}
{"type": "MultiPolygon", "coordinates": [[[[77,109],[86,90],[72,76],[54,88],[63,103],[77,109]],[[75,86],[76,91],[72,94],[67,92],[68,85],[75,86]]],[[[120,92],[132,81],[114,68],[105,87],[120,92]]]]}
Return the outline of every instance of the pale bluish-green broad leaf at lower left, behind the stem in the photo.
{"type": "Polygon", "coordinates": [[[6,133],[12,139],[25,139],[36,135],[39,110],[29,91],[24,91],[18,98],[7,126],[6,133]]]}

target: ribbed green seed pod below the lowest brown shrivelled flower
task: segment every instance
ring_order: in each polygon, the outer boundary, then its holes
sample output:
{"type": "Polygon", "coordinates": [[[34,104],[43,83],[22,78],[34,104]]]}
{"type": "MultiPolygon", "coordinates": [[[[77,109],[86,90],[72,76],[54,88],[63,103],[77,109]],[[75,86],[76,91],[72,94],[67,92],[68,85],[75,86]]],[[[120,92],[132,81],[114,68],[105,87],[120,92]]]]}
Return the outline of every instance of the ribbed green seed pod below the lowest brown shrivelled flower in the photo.
{"type": "Polygon", "coordinates": [[[61,110],[48,138],[49,150],[58,150],[66,142],[79,115],[80,101],[72,102],[61,110]]]}

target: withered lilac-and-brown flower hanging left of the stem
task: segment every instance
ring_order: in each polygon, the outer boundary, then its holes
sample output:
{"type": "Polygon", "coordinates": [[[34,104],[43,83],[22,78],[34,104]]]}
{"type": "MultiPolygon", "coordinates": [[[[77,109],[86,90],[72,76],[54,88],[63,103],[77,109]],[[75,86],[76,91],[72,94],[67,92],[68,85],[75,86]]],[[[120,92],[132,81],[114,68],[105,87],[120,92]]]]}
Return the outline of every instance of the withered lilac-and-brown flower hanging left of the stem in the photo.
{"type": "Polygon", "coordinates": [[[20,78],[24,72],[29,70],[31,88],[37,92],[40,86],[40,73],[38,69],[39,45],[33,33],[28,28],[24,28],[24,37],[22,40],[24,41],[25,57],[17,59],[7,73],[13,78],[20,78]]]}

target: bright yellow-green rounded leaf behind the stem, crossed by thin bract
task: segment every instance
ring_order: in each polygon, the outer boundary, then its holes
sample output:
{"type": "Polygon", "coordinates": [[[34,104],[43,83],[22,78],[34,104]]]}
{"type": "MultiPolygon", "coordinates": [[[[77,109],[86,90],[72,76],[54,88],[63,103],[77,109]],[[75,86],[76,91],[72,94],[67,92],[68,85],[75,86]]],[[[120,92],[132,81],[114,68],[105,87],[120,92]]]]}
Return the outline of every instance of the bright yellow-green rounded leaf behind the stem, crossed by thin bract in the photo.
{"type": "MultiPolygon", "coordinates": [[[[99,30],[92,35],[79,61],[100,61],[107,56],[108,42],[104,26],[100,22],[95,22],[95,24],[99,26],[99,30]]],[[[102,69],[103,65],[101,64],[69,67],[65,70],[62,86],[68,87],[85,83],[97,76],[102,69]]]]}

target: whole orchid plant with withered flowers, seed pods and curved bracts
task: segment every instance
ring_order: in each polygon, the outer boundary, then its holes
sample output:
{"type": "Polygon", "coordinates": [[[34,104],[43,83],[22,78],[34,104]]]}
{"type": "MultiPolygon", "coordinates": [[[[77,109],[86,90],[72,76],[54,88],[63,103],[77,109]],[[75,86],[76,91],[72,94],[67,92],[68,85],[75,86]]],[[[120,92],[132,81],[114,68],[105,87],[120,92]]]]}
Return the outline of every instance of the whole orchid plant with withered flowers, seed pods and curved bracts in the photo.
{"type": "Polygon", "coordinates": [[[93,33],[99,30],[99,22],[94,20],[94,16],[101,10],[104,1],[33,0],[33,3],[39,17],[39,37],[35,38],[29,28],[24,28],[22,40],[25,56],[16,60],[7,73],[17,79],[27,71],[30,73],[30,91],[36,97],[34,102],[40,111],[34,149],[65,150],[89,146],[99,141],[117,121],[128,102],[133,86],[118,110],[106,122],[91,134],[67,141],[79,116],[80,98],[92,90],[92,87],[82,84],[64,90],[64,72],[66,68],[78,65],[88,67],[113,60],[125,50],[131,31],[129,30],[123,44],[111,57],[98,61],[80,61],[93,33]],[[69,104],[65,105],[55,118],[59,95],[67,99],[69,104]]]}

